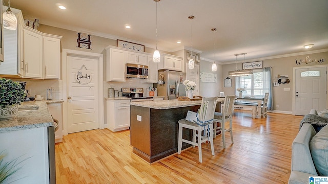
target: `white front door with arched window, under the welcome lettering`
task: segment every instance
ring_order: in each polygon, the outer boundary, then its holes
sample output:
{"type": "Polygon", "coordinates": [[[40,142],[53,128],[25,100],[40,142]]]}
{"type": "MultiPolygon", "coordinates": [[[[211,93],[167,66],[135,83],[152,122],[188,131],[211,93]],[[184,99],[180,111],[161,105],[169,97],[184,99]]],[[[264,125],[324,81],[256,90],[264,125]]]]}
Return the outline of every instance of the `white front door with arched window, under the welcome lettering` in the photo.
{"type": "Polygon", "coordinates": [[[295,115],[326,109],[326,67],[295,70],[295,115]]]}

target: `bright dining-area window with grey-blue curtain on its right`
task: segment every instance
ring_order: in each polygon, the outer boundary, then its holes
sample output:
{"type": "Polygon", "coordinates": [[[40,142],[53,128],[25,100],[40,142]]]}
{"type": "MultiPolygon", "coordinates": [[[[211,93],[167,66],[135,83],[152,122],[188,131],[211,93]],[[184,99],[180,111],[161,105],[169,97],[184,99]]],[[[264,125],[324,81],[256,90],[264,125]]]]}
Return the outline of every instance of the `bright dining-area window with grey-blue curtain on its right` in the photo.
{"type": "Polygon", "coordinates": [[[253,75],[236,77],[236,94],[237,88],[245,88],[243,96],[263,97],[269,92],[268,109],[273,110],[272,100],[272,82],[271,82],[271,67],[253,70],[253,75]]]}

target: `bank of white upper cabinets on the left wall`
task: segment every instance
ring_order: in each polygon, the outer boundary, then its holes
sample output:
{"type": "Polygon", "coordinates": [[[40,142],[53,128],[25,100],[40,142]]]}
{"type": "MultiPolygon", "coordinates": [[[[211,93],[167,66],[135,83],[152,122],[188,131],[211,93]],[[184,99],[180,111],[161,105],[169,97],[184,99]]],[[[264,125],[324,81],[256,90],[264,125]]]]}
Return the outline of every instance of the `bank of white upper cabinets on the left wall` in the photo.
{"type": "MultiPolygon", "coordinates": [[[[3,7],[7,9],[8,7],[3,7]]],[[[22,11],[11,8],[17,17],[16,30],[4,30],[5,62],[0,75],[33,79],[60,79],[60,38],[24,25],[22,11]],[[10,68],[10,70],[8,70],[10,68]]]]}

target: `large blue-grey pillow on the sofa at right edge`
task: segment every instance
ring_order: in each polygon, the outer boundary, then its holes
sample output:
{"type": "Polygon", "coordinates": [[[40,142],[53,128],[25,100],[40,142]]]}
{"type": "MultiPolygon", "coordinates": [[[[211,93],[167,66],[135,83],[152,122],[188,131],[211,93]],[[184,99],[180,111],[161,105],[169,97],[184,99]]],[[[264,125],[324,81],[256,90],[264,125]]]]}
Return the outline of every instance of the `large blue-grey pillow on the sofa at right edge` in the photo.
{"type": "Polygon", "coordinates": [[[328,125],[312,137],[310,151],[318,174],[328,176],[328,125]]]}

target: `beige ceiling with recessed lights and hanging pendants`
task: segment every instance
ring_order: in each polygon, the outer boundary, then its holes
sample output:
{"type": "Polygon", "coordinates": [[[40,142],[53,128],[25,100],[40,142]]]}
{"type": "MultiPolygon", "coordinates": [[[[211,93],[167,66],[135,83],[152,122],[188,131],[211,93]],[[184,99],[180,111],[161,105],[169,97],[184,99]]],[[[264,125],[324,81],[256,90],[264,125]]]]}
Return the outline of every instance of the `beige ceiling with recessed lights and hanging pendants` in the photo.
{"type": "MultiPolygon", "coordinates": [[[[153,0],[12,0],[10,5],[24,16],[38,18],[40,24],[156,48],[153,0]]],[[[201,60],[231,63],[239,53],[252,60],[327,49],[327,7],[327,0],[161,0],[158,50],[192,48],[201,53],[201,60]],[[190,15],[195,18],[188,19],[190,15]],[[212,28],[217,29],[214,34],[212,28]],[[305,50],[305,44],[314,47],[305,50]]]]}

